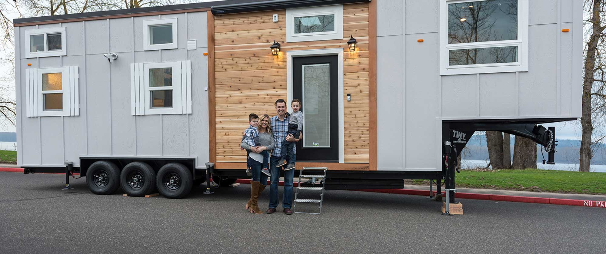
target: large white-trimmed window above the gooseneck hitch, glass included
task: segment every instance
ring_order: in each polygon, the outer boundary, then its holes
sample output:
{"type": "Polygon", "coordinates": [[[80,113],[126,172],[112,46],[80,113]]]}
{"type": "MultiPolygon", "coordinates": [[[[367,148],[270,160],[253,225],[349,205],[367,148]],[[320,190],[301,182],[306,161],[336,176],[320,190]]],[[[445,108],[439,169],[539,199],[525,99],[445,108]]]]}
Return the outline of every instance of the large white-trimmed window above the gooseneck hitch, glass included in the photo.
{"type": "Polygon", "coordinates": [[[440,75],[528,71],[528,0],[441,0],[440,75]]]}

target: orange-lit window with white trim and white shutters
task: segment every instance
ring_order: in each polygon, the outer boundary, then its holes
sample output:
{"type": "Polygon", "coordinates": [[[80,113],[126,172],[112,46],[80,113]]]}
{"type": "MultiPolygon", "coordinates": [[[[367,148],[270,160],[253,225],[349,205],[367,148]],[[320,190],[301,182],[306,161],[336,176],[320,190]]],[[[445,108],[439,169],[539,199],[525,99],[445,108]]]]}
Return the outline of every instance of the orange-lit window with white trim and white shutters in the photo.
{"type": "Polygon", "coordinates": [[[27,117],[79,116],[78,67],[25,70],[27,117]]]}

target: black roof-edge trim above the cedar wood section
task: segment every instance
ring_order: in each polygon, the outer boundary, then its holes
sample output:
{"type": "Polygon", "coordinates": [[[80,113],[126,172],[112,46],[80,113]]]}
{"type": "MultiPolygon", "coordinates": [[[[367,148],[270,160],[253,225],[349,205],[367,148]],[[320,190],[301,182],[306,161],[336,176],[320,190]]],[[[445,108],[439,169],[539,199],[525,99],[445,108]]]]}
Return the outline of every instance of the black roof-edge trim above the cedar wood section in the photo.
{"type": "Polygon", "coordinates": [[[355,2],[370,2],[370,0],[267,0],[255,3],[226,3],[224,5],[213,5],[213,7],[210,8],[210,11],[213,13],[213,15],[222,15],[321,5],[353,4],[355,2]]]}

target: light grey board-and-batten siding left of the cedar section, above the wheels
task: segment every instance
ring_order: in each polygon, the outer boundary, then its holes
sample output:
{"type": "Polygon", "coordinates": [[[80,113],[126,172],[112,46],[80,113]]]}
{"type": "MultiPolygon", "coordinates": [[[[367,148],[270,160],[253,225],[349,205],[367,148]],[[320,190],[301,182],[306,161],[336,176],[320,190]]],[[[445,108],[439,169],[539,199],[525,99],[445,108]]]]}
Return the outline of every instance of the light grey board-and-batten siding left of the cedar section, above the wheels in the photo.
{"type": "Polygon", "coordinates": [[[16,27],[18,165],[63,166],[70,160],[79,166],[82,156],[179,157],[196,158],[196,167],[205,168],[208,59],[202,53],[207,52],[206,22],[206,11],[200,11],[16,27]],[[144,51],[143,21],[165,18],[178,19],[177,48],[144,51]],[[50,27],[66,28],[67,54],[26,58],[28,47],[20,45],[25,41],[25,31],[50,27]],[[105,53],[116,53],[118,59],[110,64],[105,53]],[[181,75],[186,89],[182,96],[189,103],[181,106],[180,114],[133,114],[130,67],[152,62],[184,65],[181,75]],[[79,104],[73,108],[75,116],[32,115],[32,106],[39,106],[28,104],[39,103],[28,100],[36,96],[27,85],[37,82],[31,79],[32,71],[56,67],[75,67],[70,70],[78,71],[78,85],[70,90],[74,105],[79,104]]]}

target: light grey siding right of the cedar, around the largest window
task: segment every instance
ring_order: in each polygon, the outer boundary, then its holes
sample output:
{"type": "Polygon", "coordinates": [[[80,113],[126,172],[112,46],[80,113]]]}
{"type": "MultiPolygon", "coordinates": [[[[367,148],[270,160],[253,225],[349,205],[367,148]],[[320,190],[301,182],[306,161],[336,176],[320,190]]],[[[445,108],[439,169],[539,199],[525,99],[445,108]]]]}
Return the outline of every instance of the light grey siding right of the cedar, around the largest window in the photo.
{"type": "Polygon", "coordinates": [[[441,2],[377,1],[378,170],[441,171],[443,120],[581,116],[582,1],[529,1],[528,71],[443,76],[441,2]]]}

